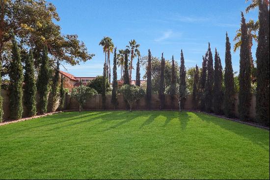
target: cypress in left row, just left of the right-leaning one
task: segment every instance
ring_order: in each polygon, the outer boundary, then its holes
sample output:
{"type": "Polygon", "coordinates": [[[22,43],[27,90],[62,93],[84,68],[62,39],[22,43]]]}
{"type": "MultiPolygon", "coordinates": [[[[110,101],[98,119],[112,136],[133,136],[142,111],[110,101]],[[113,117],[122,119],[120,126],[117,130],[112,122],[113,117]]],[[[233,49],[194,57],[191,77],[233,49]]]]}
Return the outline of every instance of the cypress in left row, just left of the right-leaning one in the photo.
{"type": "Polygon", "coordinates": [[[47,113],[49,82],[50,82],[50,69],[49,69],[48,48],[47,46],[44,46],[41,57],[41,66],[37,77],[37,91],[39,93],[38,109],[40,114],[47,113]]]}

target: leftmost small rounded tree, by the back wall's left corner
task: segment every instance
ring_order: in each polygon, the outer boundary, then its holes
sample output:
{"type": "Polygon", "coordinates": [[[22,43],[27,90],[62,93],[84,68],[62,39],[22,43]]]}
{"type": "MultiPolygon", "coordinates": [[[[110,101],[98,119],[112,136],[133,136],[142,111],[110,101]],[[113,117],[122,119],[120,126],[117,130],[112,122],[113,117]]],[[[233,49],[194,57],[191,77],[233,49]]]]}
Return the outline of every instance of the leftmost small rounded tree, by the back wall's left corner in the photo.
{"type": "Polygon", "coordinates": [[[97,91],[93,88],[81,85],[71,90],[70,97],[79,103],[79,112],[81,112],[81,107],[86,100],[93,97],[95,94],[97,94],[97,91]]]}

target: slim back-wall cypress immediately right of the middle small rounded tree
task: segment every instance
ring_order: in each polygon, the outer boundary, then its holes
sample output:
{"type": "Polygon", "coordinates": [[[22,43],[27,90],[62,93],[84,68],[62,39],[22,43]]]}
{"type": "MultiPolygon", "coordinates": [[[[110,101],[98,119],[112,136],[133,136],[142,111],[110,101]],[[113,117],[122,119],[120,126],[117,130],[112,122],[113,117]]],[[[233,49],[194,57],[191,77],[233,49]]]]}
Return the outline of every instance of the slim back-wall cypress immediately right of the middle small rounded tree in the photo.
{"type": "Polygon", "coordinates": [[[151,77],[151,52],[148,49],[148,65],[147,65],[147,86],[146,86],[146,104],[148,109],[151,109],[152,98],[152,77],[151,77]]]}

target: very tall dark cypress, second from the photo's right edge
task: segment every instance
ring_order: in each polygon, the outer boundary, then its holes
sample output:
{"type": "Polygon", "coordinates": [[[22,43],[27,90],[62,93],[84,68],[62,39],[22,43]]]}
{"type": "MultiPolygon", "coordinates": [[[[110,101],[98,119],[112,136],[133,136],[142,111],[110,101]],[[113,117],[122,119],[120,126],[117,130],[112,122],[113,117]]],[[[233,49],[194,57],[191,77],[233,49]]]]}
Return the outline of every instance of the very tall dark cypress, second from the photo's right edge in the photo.
{"type": "Polygon", "coordinates": [[[251,100],[251,65],[248,49],[248,34],[245,19],[242,15],[241,41],[240,46],[240,72],[239,72],[239,104],[238,110],[240,120],[248,120],[250,100],[251,100]]]}

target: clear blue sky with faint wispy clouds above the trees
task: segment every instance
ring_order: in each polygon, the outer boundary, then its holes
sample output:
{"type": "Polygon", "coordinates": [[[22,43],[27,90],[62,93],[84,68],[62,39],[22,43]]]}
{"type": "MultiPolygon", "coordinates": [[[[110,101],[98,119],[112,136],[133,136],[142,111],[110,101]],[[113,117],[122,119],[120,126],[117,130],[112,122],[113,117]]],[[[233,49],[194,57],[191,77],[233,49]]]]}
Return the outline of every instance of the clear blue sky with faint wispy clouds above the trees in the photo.
{"type": "MultiPolygon", "coordinates": [[[[56,6],[60,16],[57,24],[61,26],[62,33],[78,34],[89,53],[95,54],[92,60],[81,62],[81,65],[66,64],[65,67],[75,76],[91,77],[103,72],[104,54],[99,46],[103,36],[111,37],[118,49],[125,48],[131,39],[135,39],[140,44],[142,56],[147,55],[150,49],[153,56],[161,57],[164,52],[165,59],[174,55],[178,62],[183,49],[187,68],[196,64],[201,66],[202,56],[210,42],[213,54],[217,48],[224,67],[225,33],[228,31],[233,48],[233,37],[241,23],[241,11],[250,3],[245,3],[245,0],[49,1],[56,6]]],[[[258,9],[245,14],[247,21],[257,17],[258,9]]],[[[256,43],[252,48],[254,58],[255,52],[256,43]]],[[[238,71],[239,51],[232,51],[232,62],[234,71],[238,71]]],[[[141,76],[143,74],[141,72],[141,76]]]]}

